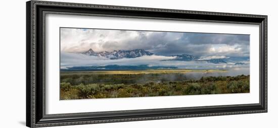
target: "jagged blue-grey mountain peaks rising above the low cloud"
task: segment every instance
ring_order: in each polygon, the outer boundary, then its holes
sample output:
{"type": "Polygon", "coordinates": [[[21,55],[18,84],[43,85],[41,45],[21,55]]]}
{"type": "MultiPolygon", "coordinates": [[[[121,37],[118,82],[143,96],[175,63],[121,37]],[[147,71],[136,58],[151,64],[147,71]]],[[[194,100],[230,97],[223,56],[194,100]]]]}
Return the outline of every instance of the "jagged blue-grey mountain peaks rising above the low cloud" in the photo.
{"type": "MultiPolygon", "coordinates": [[[[85,52],[82,52],[82,54],[85,55],[93,55],[93,56],[102,56],[109,59],[121,59],[121,58],[136,58],[141,57],[144,55],[153,55],[154,53],[150,51],[146,51],[144,49],[133,49],[133,50],[114,50],[114,51],[101,51],[101,52],[95,52],[91,48],[85,52]]],[[[208,59],[208,60],[198,60],[199,57],[193,56],[190,54],[176,54],[176,55],[170,55],[170,56],[176,56],[175,59],[171,60],[178,60],[178,61],[207,61],[210,63],[227,63],[223,59],[208,59]]],[[[167,60],[165,60],[167,61],[167,60]]]]}

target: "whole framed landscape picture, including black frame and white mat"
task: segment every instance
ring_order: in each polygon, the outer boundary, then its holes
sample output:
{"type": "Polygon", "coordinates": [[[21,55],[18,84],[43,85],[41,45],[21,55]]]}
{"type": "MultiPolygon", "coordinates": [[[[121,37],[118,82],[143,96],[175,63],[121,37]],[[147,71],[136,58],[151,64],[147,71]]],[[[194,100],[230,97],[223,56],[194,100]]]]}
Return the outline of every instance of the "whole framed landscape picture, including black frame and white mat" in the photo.
{"type": "Polygon", "coordinates": [[[267,112],[267,16],[26,3],[26,125],[267,112]]]}

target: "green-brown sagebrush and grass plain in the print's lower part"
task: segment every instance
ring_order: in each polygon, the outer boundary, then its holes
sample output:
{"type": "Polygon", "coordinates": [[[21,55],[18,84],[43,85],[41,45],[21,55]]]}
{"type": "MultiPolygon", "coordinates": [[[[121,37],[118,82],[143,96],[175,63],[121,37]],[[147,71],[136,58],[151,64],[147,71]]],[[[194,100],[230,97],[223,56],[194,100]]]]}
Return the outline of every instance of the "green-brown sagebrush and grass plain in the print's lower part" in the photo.
{"type": "Polygon", "coordinates": [[[95,75],[65,73],[61,74],[60,99],[249,93],[249,79],[249,75],[188,80],[179,73],[95,75]]]}

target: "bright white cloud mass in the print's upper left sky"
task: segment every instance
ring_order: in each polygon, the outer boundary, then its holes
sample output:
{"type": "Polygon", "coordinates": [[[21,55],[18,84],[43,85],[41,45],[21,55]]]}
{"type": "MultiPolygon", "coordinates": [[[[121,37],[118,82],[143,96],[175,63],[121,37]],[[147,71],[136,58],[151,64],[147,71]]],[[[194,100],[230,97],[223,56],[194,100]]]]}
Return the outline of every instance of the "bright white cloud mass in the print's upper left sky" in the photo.
{"type": "Polygon", "coordinates": [[[151,49],[179,39],[182,33],[61,28],[61,51],[151,49]]]}

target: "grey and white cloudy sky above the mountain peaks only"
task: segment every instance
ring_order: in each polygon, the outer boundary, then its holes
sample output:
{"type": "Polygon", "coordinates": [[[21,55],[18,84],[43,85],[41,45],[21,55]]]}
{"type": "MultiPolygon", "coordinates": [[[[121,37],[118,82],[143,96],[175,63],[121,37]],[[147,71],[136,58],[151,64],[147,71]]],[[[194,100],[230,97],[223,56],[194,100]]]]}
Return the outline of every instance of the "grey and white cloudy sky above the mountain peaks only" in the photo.
{"type": "Polygon", "coordinates": [[[249,57],[249,35],[61,28],[61,51],[145,49],[156,55],[249,57]]]}

